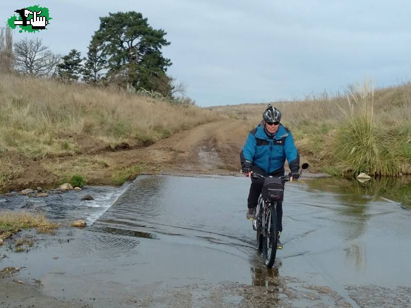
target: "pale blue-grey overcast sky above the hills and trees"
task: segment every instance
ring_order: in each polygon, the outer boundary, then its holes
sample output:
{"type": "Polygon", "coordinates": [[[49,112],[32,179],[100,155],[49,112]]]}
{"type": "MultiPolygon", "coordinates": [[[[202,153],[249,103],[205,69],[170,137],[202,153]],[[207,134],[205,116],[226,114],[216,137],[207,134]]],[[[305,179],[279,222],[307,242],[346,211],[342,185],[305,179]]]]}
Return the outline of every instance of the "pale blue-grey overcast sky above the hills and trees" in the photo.
{"type": "Polygon", "coordinates": [[[41,37],[55,53],[82,56],[100,16],[141,12],[167,32],[168,72],[200,106],[301,99],[367,77],[379,87],[409,80],[409,0],[13,1],[0,20],[36,4],[49,9],[48,29],[14,30],[14,40],[41,37]]]}

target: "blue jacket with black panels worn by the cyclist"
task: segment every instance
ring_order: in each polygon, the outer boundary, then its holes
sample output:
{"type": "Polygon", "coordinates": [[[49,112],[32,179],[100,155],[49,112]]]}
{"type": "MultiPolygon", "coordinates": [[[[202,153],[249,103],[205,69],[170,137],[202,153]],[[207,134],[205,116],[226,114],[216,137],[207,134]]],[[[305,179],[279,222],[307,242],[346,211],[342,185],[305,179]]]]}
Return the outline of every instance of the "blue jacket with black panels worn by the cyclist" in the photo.
{"type": "Polygon", "coordinates": [[[274,171],[284,170],[287,158],[290,170],[297,172],[300,169],[300,155],[294,145],[291,131],[280,124],[274,138],[271,139],[261,125],[265,124],[261,123],[248,134],[246,144],[240,153],[241,167],[245,164],[256,165],[269,175],[274,171]]]}

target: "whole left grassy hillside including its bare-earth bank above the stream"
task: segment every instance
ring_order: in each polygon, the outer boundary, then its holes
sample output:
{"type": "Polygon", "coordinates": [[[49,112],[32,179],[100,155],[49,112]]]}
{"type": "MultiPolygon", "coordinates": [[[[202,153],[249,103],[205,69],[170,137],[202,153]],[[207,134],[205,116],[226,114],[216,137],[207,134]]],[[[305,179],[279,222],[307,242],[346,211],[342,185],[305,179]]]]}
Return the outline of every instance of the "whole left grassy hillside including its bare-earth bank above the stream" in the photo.
{"type": "Polygon", "coordinates": [[[121,184],[142,170],[141,160],[108,165],[101,153],[141,148],[220,118],[115,88],[0,74],[0,191],[52,186],[74,171],[98,169],[110,178],[96,176],[96,183],[121,184]]]}

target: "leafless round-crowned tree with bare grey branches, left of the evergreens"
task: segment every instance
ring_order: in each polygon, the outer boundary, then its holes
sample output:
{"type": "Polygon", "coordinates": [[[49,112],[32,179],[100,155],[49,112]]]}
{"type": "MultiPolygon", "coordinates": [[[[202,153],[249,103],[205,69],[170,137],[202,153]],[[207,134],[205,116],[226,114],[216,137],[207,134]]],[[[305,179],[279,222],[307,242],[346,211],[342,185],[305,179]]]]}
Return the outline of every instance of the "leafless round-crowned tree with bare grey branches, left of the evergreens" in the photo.
{"type": "Polygon", "coordinates": [[[40,38],[27,37],[14,43],[16,70],[31,76],[46,76],[55,70],[60,55],[53,54],[40,38]]]}

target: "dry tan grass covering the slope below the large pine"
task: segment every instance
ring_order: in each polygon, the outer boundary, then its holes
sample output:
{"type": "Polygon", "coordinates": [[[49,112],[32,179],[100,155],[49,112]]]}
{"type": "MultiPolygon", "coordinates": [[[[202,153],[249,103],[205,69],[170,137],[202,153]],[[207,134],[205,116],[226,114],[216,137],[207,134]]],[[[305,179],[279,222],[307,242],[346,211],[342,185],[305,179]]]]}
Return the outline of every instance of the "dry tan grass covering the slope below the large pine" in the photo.
{"type": "Polygon", "coordinates": [[[112,88],[0,75],[0,150],[34,159],[79,150],[76,143],[59,140],[57,133],[153,143],[218,118],[196,106],[172,106],[112,88]]]}

